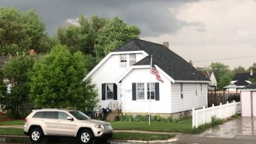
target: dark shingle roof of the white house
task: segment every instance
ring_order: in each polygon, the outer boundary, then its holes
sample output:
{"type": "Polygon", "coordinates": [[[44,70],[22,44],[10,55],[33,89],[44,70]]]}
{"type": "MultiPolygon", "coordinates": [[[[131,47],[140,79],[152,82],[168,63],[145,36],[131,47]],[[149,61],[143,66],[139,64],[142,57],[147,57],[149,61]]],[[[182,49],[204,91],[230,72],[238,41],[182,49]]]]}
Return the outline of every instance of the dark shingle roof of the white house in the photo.
{"type": "Polygon", "coordinates": [[[132,39],[114,51],[138,50],[145,51],[149,56],[134,65],[150,65],[150,57],[152,55],[153,64],[159,66],[159,68],[165,71],[174,80],[210,81],[190,63],[162,44],[132,39]]]}

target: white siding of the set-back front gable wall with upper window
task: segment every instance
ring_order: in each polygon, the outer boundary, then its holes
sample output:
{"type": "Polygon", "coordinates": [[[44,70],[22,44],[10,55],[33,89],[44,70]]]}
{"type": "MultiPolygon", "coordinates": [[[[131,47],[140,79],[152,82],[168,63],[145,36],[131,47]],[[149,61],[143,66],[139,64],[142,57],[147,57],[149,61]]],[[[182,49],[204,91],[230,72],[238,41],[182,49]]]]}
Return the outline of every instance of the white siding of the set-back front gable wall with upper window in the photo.
{"type": "MultiPolygon", "coordinates": [[[[145,56],[142,53],[136,54],[136,62],[143,59],[145,56]]],[[[127,69],[129,68],[129,54],[127,54],[127,66],[120,67],[120,55],[112,55],[106,60],[91,76],[91,80],[96,84],[98,89],[99,106],[106,108],[110,101],[118,101],[121,104],[121,88],[118,87],[118,100],[102,100],[102,84],[115,83],[127,69]]]]}

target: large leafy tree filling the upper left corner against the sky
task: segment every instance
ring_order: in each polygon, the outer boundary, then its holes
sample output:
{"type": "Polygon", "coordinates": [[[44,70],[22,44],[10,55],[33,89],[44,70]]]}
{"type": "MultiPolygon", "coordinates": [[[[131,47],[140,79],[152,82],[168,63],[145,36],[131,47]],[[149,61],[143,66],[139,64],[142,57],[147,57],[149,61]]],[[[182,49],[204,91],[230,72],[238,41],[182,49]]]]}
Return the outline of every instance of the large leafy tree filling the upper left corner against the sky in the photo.
{"type": "Polygon", "coordinates": [[[46,53],[52,43],[44,31],[45,25],[33,9],[20,12],[14,7],[0,7],[0,56],[30,49],[46,53]]]}

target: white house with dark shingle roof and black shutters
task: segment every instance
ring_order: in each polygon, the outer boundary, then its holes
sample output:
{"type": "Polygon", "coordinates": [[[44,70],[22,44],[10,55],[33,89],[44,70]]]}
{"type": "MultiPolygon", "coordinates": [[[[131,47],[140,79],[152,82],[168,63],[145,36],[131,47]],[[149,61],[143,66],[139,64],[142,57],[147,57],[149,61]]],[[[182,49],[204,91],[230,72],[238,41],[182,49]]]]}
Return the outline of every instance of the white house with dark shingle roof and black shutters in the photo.
{"type": "Polygon", "coordinates": [[[210,80],[162,44],[130,40],[104,57],[88,78],[97,85],[104,108],[169,115],[207,106],[210,80]],[[151,55],[163,83],[150,73],[151,55]]]}

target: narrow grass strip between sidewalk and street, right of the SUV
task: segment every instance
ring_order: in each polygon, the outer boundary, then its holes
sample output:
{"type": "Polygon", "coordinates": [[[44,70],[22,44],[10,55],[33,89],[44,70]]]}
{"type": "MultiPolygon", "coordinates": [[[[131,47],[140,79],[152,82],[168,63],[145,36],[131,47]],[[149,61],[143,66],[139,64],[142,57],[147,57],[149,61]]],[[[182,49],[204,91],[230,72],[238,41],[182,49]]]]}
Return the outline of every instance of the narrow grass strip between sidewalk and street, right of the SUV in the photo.
{"type": "Polygon", "coordinates": [[[144,134],[144,133],[132,133],[132,132],[115,132],[113,133],[112,140],[167,140],[175,135],[168,134],[144,134]]]}

